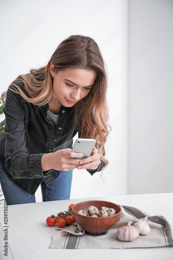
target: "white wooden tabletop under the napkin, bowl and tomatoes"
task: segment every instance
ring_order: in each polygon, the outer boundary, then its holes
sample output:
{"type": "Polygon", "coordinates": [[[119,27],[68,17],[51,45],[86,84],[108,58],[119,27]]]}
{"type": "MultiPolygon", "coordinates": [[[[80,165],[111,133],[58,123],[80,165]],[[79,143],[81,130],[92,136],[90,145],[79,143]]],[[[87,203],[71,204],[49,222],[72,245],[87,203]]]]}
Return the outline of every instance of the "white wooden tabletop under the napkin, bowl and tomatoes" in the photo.
{"type": "Polygon", "coordinates": [[[48,227],[46,218],[68,209],[70,204],[87,200],[105,200],[120,205],[137,207],[150,216],[162,215],[168,219],[173,232],[173,193],[139,194],[82,198],[8,206],[8,257],[4,256],[4,206],[0,207],[0,259],[99,259],[99,260],[172,260],[173,248],[131,249],[50,249],[56,226],[48,227]],[[158,213],[157,213],[157,212],[158,213]],[[91,255],[90,255],[91,254],[91,255]],[[89,257],[90,255],[90,257],[89,257]]]}

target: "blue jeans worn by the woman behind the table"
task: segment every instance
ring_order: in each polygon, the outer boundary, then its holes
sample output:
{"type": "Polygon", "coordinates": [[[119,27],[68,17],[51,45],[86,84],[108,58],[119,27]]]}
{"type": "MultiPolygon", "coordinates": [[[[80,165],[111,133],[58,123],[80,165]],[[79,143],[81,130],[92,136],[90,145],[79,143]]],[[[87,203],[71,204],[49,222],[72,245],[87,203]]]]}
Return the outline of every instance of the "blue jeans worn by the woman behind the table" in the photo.
{"type": "MultiPolygon", "coordinates": [[[[56,179],[49,185],[41,181],[41,191],[43,202],[52,200],[70,199],[70,190],[73,170],[61,171],[56,179]]],[[[24,191],[21,187],[13,183],[4,172],[0,163],[0,183],[8,205],[25,204],[36,202],[35,195],[24,191]]]]}

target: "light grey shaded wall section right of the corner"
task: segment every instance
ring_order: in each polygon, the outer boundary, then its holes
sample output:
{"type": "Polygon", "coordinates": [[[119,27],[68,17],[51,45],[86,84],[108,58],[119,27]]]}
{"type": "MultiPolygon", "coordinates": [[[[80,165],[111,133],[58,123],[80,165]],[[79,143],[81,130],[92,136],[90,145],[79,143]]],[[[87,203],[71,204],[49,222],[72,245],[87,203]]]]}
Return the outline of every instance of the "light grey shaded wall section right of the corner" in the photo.
{"type": "Polygon", "coordinates": [[[129,1],[128,192],[134,194],[173,191],[172,14],[173,1],[129,1]]]}

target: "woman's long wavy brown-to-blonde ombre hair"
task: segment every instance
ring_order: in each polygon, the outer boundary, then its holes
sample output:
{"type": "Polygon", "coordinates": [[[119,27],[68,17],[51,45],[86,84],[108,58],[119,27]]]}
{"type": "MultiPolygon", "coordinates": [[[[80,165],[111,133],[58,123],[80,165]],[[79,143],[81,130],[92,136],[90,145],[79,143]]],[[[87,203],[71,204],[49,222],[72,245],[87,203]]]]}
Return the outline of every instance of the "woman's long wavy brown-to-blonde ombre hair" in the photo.
{"type": "MultiPolygon", "coordinates": [[[[97,73],[94,86],[87,96],[74,104],[74,126],[81,133],[80,138],[93,138],[96,140],[95,147],[106,164],[108,160],[104,157],[103,145],[107,141],[109,126],[108,106],[106,100],[107,73],[106,64],[102,58],[97,43],[88,36],[71,35],[63,40],[54,51],[48,64],[39,69],[31,69],[30,75],[20,74],[16,80],[25,84],[25,89],[31,97],[27,97],[23,91],[14,83],[10,86],[17,87],[24,100],[34,105],[45,105],[52,96],[53,77],[50,73],[50,63],[54,65],[54,72],[66,70],[67,68],[80,68],[93,70],[97,73]],[[108,125],[107,125],[108,123],[108,125]]],[[[18,83],[17,82],[17,83],[18,83]]],[[[8,90],[7,89],[7,90],[8,90]]],[[[2,93],[0,100],[5,105],[6,92],[2,93]]],[[[111,129],[111,127],[109,126],[111,129]]],[[[112,130],[112,129],[111,129],[112,130]]]]}

